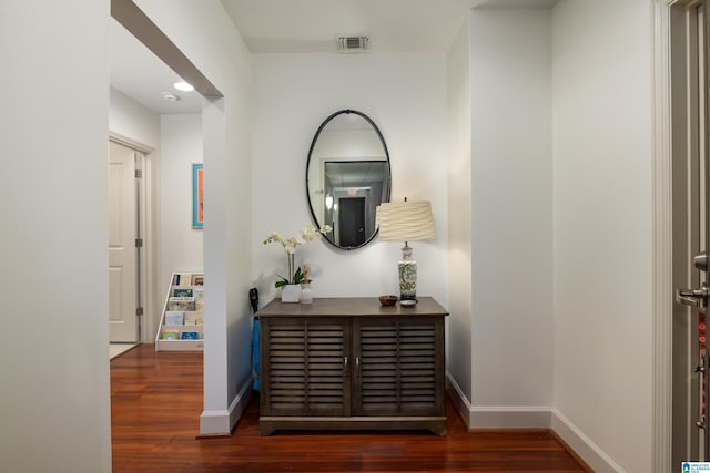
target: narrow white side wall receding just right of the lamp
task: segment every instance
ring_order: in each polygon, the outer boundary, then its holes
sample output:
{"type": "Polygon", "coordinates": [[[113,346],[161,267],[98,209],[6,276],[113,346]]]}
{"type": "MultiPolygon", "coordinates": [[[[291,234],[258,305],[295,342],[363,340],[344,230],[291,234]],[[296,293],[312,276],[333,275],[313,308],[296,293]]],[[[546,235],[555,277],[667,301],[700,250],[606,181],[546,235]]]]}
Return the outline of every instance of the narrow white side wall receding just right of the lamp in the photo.
{"type": "Polygon", "coordinates": [[[462,25],[447,55],[449,143],[448,235],[449,311],[447,370],[458,398],[471,399],[471,102],[469,22],[462,25]]]}

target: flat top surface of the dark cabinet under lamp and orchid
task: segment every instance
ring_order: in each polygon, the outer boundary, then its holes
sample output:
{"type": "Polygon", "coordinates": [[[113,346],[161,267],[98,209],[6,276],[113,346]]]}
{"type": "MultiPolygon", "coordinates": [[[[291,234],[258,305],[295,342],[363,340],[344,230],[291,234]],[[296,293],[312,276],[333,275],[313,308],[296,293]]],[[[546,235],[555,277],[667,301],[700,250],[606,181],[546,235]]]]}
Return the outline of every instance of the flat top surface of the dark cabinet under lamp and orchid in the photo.
{"type": "Polygon", "coordinates": [[[419,297],[413,307],[382,306],[376,297],[323,297],[313,304],[282,302],[274,299],[262,307],[255,317],[367,317],[367,316],[448,316],[433,297],[419,297]]]}

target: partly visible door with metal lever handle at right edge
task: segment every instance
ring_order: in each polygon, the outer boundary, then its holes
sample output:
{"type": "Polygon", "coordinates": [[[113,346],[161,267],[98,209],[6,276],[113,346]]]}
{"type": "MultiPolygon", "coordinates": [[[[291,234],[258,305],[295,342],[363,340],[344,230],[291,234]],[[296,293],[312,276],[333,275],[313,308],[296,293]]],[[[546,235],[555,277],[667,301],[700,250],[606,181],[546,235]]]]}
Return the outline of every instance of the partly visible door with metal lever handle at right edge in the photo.
{"type": "Polygon", "coordinates": [[[707,19],[703,2],[678,10],[682,41],[673,45],[673,308],[672,463],[710,460],[706,313],[708,248],[707,19]],[[680,18],[682,17],[682,18],[680,18]]]}

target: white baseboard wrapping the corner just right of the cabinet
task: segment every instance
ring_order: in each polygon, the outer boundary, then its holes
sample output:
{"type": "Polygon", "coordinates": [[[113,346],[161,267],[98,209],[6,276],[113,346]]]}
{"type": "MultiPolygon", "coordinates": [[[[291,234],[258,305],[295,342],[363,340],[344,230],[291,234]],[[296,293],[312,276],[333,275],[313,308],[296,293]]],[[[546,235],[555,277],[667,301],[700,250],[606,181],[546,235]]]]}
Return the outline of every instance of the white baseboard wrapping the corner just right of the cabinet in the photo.
{"type": "Polygon", "coordinates": [[[549,429],[551,408],[486,405],[474,407],[456,380],[446,374],[446,389],[467,430],[475,429],[549,429]]]}

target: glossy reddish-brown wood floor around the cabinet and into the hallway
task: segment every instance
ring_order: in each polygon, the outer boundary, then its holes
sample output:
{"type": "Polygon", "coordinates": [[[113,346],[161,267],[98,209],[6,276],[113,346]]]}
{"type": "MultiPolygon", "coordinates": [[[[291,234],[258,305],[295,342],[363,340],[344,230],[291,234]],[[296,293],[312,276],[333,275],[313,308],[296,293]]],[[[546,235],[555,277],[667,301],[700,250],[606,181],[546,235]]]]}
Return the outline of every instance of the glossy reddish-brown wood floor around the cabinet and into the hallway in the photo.
{"type": "Polygon", "coordinates": [[[113,473],[584,472],[548,432],[467,433],[448,409],[448,435],[258,435],[252,402],[230,438],[196,439],[202,353],[143,345],[111,361],[113,473]]]}

